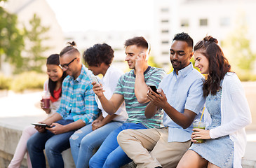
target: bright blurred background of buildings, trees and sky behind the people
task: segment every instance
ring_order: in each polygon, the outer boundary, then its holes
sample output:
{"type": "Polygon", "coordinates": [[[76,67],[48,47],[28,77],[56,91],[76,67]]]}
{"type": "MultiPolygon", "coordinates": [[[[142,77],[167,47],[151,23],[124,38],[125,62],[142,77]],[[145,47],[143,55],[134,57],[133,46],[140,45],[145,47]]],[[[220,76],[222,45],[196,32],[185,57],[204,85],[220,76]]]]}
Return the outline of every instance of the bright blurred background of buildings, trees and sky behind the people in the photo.
{"type": "Polygon", "coordinates": [[[0,97],[41,90],[46,57],[68,41],[81,53],[108,43],[113,64],[129,71],[123,43],[144,36],[151,43],[149,64],[170,73],[170,44],[182,31],[194,43],[206,35],[217,38],[245,91],[255,97],[255,8],[255,0],[0,0],[0,97]]]}

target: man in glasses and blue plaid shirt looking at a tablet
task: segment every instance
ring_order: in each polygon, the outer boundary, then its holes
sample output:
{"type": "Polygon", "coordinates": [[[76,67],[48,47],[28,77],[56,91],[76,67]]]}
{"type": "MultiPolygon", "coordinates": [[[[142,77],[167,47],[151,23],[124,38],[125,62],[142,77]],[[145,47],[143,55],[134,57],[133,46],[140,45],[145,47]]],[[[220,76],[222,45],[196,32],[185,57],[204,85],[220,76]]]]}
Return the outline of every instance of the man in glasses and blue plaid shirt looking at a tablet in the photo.
{"type": "Polygon", "coordinates": [[[44,148],[50,167],[64,167],[61,153],[70,147],[69,137],[97,118],[99,111],[91,85],[91,73],[81,64],[80,57],[73,45],[60,52],[60,66],[69,76],[62,83],[62,99],[57,113],[41,122],[50,125],[50,128],[36,126],[38,132],[27,141],[32,167],[46,167],[44,148]]]}

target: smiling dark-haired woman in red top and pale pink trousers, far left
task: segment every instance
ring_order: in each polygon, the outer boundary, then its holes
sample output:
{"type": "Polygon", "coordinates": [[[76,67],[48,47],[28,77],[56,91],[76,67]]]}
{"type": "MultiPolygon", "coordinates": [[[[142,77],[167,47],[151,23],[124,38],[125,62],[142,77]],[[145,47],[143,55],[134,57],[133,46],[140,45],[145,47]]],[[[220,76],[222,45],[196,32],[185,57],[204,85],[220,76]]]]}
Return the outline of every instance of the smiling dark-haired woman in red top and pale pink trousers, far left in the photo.
{"type": "MultiPolygon", "coordinates": [[[[46,66],[47,66],[47,74],[48,80],[43,85],[43,92],[50,93],[50,106],[45,106],[46,104],[41,101],[41,109],[46,111],[48,117],[50,117],[60,106],[60,97],[62,94],[61,86],[62,81],[66,77],[66,73],[62,71],[60,66],[60,59],[58,54],[50,55],[47,58],[46,66]]],[[[34,125],[29,125],[22,132],[22,136],[20,137],[20,141],[15,150],[13,159],[11,160],[8,168],[19,168],[20,164],[24,158],[25,153],[27,152],[27,140],[36,133],[36,129],[34,125]]],[[[31,168],[31,162],[29,159],[29,155],[27,153],[27,167],[31,168]]]]}

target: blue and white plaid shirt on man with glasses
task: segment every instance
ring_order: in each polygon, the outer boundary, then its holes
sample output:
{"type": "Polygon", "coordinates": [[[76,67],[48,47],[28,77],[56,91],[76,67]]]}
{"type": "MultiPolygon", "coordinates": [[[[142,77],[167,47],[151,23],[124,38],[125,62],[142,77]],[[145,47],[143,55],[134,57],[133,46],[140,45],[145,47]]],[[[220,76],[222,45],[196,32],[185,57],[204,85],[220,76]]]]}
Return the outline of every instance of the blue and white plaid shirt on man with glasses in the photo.
{"type": "Polygon", "coordinates": [[[97,118],[99,109],[91,83],[90,71],[84,65],[78,78],[74,80],[73,76],[67,76],[63,80],[62,98],[57,111],[62,118],[71,114],[74,121],[81,119],[86,125],[97,118]]]}

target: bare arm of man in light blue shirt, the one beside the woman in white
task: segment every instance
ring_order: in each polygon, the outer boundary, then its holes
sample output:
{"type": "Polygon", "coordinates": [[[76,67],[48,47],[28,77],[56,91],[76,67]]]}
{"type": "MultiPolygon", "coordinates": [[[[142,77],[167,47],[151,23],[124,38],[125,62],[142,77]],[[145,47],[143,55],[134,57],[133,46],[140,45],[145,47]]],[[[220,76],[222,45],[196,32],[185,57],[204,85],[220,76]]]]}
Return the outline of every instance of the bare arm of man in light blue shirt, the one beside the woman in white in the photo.
{"type": "Polygon", "coordinates": [[[153,92],[151,90],[151,88],[149,88],[149,93],[147,95],[148,95],[151,103],[154,104],[154,106],[163,109],[166,112],[166,114],[175,123],[177,123],[177,125],[180,125],[184,129],[189,127],[191,125],[191,123],[193,122],[194,118],[196,117],[196,113],[194,113],[193,111],[187,110],[187,109],[184,109],[184,113],[180,113],[179,111],[174,109],[173,106],[170,106],[170,104],[168,104],[167,99],[166,99],[166,94],[164,94],[163,90],[157,90],[157,92],[160,95],[156,94],[155,92],[153,92]]]}

